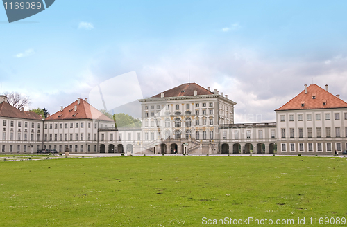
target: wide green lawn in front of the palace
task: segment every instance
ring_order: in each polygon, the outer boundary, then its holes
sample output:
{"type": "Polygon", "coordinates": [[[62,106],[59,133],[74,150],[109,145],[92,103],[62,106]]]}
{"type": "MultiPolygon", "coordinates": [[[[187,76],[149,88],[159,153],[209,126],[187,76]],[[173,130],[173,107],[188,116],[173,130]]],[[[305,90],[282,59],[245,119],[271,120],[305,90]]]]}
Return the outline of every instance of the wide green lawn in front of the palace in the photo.
{"type": "Polygon", "coordinates": [[[0,226],[209,226],[203,217],[294,219],[291,226],[305,217],[308,226],[310,217],[347,218],[346,158],[62,158],[1,162],[0,171],[0,226]]]}

